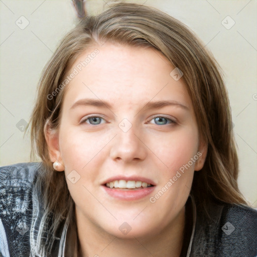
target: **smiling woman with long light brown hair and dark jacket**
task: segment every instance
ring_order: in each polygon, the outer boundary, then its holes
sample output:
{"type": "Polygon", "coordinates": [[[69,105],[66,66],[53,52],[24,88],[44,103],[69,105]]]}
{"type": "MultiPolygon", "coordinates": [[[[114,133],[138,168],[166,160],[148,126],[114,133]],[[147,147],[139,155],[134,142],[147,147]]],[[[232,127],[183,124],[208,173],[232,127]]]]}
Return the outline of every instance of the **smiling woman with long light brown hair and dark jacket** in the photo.
{"type": "Polygon", "coordinates": [[[47,64],[31,116],[42,163],[1,171],[3,256],[255,256],[227,92],[180,22],[115,3],[47,64]]]}

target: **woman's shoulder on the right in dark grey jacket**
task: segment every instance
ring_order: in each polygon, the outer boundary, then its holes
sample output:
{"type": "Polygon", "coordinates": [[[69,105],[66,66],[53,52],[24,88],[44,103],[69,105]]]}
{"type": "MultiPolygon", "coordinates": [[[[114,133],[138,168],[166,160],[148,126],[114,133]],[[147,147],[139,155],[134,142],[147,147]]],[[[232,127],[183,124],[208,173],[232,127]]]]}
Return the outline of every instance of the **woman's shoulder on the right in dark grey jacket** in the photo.
{"type": "Polygon", "coordinates": [[[257,211],[249,206],[212,203],[210,219],[198,211],[194,256],[257,256],[257,211]]]}

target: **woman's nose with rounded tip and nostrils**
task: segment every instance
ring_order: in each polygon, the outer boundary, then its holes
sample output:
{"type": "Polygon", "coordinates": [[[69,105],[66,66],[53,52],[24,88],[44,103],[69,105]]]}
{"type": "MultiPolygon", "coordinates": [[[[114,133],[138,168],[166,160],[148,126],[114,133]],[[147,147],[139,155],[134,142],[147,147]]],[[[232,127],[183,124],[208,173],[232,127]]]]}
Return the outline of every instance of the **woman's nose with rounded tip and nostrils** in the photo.
{"type": "Polygon", "coordinates": [[[120,160],[125,163],[136,160],[145,160],[147,157],[147,146],[140,133],[135,134],[134,127],[127,132],[117,129],[117,136],[112,142],[110,157],[112,160],[120,160]]]}

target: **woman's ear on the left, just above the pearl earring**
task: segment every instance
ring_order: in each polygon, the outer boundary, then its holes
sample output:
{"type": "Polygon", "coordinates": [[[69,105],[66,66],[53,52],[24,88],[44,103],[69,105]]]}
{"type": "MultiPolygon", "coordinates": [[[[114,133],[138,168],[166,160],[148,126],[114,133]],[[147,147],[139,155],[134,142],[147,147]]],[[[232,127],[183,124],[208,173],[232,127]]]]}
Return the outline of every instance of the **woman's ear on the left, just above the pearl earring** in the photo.
{"type": "Polygon", "coordinates": [[[56,129],[51,129],[49,124],[45,125],[45,139],[47,143],[48,154],[51,162],[58,162],[60,165],[57,171],[64,171],[64,164],[61,157],[59,148],[59,132],[56,129]]]}

